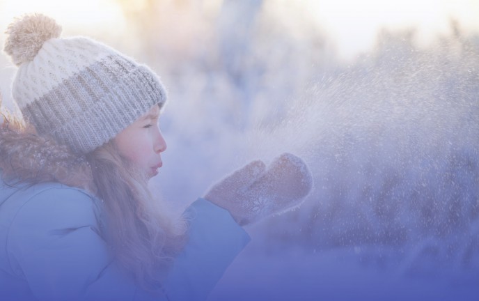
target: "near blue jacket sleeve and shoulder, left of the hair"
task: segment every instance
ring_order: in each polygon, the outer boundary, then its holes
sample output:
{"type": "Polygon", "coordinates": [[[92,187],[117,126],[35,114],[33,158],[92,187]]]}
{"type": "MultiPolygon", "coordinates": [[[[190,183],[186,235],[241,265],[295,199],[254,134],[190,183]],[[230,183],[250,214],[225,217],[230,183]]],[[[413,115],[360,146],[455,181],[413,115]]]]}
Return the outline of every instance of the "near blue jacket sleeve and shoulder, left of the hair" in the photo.
{"type": "Polygon", "coordinates": [[[56,187],[31,196],[10,226],[7,250],[38,300],[154,300],[111,262],[95,203],[81,190],[56,187]]]}

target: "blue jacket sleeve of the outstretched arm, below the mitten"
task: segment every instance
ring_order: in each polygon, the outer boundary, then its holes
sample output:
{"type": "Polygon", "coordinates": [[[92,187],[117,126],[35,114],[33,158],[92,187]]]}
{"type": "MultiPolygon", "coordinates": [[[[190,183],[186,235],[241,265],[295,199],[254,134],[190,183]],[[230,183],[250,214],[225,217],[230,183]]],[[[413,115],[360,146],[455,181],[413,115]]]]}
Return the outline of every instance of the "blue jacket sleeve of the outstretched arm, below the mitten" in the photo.
{"type": "Polygon", "coordinates": [[[168,300],[206,300],[250,238],[230,213],[205,199],[188,209],[189,240],[164,281],[168,300]]]}

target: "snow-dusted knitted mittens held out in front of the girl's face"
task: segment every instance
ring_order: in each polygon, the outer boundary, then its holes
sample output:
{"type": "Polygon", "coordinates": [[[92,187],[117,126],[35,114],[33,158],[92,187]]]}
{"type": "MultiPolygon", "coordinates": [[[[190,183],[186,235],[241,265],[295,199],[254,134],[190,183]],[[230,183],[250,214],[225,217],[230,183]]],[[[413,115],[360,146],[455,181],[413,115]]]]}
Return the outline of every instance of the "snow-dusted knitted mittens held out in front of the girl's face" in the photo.
{"type": "Polygon", "coordinates": [[[253,161],[214,185],[205,199],[225,208],[240,225],[298,206],[313,186],[308,167],[284,153],[266,169],[253,161]]]}

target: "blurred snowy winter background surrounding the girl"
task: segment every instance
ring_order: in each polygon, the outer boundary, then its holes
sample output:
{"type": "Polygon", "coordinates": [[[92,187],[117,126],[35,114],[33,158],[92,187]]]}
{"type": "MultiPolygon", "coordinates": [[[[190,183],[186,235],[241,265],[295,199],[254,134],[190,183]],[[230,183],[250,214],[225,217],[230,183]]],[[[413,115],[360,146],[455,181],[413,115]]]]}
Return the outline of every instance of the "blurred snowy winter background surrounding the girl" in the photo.
{"type": "Polygon", "coordinates": [[[308,163],[210,301],[478,300],[478,0],[0,0],[0,26],[31,12],[162,77],[175,214],[249,160],[308,163]]]}

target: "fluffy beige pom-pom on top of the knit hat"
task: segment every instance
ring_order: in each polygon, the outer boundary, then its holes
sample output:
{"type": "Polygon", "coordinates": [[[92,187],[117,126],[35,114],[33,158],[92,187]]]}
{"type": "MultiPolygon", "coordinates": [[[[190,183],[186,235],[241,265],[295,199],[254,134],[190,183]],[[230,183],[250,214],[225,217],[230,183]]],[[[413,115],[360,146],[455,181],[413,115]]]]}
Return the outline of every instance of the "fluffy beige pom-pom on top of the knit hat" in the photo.
{"type": "Polygon", "coordinates": [[[6,33],[4,51],[12,57],[15,65],[22,65],[35,58],[45,41],[58,38],[61,26],[45,15],[24,15],[10,24],[6,33]]]}

